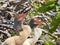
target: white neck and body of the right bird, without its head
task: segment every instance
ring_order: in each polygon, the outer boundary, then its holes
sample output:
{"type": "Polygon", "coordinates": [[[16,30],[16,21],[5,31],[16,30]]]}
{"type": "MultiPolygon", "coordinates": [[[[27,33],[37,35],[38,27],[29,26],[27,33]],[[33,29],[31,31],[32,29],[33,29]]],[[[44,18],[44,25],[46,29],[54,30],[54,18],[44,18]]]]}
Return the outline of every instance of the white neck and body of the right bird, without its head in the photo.
{"type": "Polygon", "coordinates": [[[35,28],[34,29],[34,35],[32,38],[28,38],[24,41],[23,45],[35,45],[40,36],[42,35],[42,30],[41,28],[35,28]]]}

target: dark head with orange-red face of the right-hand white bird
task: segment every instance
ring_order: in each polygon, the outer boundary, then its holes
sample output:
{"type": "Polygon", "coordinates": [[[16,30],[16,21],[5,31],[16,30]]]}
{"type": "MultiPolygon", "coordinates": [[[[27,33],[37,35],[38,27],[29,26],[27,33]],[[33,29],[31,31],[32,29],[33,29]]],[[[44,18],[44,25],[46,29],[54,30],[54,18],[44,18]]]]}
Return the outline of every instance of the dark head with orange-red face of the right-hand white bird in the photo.
{"type": "Polygon", "coordinates": [[[31,28],[36,27],[37,25],[43,25],[43,20],[42,17],[40,16],[35,16],[31,19],[31,21],[29,22],[29,25],[31,26],[31,28]]]}

